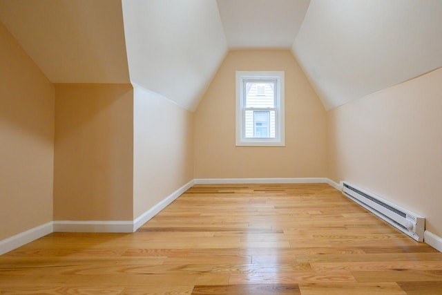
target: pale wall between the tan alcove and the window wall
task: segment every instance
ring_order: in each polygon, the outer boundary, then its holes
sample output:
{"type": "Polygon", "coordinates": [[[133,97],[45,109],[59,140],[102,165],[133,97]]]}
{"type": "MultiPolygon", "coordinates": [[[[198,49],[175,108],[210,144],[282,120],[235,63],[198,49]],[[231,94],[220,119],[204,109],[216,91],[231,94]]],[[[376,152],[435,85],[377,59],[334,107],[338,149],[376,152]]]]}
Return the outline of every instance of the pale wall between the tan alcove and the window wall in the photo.
{"type": "Polygon", "coordinates": [[[193,113],[135,88],[133,218],[193,180],[193,113]]]}

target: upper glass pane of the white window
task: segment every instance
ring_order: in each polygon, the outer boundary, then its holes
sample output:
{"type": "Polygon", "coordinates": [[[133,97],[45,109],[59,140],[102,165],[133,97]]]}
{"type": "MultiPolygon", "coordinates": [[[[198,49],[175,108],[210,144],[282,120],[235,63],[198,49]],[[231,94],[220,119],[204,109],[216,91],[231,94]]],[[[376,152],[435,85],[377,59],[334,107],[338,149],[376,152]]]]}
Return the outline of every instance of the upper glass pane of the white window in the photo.
{"type": "Polygon", "coordinates": [[[245,82],[246,108],[274,108],[274,82],[245,82]]]}

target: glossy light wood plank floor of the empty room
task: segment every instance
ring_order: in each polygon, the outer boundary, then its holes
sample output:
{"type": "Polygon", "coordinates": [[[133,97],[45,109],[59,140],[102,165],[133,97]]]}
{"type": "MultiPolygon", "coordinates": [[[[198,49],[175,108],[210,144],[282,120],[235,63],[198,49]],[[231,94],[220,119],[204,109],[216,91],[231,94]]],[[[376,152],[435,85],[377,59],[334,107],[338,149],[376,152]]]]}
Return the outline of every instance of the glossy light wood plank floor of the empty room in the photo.
{"type": "Polygon", "coordinates": [[[0,256],[0,294],[442,294],[442,254],[327,184],[197,185],[133,234],[0,256]]]}

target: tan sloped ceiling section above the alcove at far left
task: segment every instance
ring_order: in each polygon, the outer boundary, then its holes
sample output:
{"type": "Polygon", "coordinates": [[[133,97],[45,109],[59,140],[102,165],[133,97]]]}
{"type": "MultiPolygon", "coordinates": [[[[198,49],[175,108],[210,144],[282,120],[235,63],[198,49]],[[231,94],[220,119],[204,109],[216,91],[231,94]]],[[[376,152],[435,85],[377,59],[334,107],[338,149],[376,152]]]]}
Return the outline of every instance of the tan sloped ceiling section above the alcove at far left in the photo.
{"type": "Polygon", "coordinates": [[[119,0],[1,0],[0,20],[53,83],[129,83],[119,0]]]}

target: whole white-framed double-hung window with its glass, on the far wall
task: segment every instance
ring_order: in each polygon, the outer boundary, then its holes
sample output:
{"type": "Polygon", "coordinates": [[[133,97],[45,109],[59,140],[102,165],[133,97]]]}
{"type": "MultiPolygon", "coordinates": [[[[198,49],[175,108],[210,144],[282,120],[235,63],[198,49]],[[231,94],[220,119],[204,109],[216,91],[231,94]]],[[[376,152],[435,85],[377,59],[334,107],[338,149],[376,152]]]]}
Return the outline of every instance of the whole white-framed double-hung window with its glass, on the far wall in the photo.
{"type": "Polygon", "coordinates": [[[236,145],[285,146],[284,72],[236,72],[236,145]]]}

